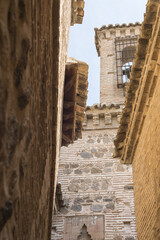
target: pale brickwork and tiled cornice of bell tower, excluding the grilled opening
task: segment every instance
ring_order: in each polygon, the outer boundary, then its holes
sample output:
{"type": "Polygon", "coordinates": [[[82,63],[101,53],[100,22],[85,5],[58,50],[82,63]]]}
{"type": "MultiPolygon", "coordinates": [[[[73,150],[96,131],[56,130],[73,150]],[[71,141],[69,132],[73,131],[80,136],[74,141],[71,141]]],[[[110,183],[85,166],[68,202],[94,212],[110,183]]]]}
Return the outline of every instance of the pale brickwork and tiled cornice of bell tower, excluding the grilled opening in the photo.
{"type": "Polygon", "coordinates": [[[95,28],[95,43],[100,56],[101,103],[124,103],[124,89],[117,88],[115,38],[138,36],[139,29],[139,23],[95,28]]]}

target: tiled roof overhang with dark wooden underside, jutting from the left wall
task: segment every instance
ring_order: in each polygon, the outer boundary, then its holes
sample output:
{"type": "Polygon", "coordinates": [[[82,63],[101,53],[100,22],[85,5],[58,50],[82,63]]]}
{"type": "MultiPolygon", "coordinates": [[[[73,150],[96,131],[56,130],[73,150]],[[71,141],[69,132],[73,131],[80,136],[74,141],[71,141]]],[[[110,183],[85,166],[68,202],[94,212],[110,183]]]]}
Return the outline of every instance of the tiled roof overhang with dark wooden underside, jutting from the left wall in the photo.
{"type": "Polygon", "coordinates": [[[88,65],[75,59],[66,64],[62,146],[82,137],[82,122],[88,94],[88,65]]]}

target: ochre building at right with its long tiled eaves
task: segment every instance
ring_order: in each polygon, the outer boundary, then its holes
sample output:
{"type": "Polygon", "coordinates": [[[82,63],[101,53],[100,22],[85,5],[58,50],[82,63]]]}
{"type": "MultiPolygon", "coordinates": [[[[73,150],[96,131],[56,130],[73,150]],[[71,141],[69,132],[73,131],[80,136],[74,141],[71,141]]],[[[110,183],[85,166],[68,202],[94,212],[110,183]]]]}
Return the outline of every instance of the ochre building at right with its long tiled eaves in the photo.
{"type": "Polygon", "coordinates": [[[149,0],[115,140],[132,164],[137,237],[160,239],[160,2],[149,0]]]}

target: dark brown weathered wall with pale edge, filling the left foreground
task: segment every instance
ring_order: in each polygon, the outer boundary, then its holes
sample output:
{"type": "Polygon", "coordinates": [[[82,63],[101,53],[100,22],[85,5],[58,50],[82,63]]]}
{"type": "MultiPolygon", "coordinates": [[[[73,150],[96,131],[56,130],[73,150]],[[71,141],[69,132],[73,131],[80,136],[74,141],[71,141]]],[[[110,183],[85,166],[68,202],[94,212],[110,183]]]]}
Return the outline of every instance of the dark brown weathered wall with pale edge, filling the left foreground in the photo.
{"type": "Polygon", "coordinates": [[[71,1],[0,1],[0,239],[50,239],[71,1]]]}

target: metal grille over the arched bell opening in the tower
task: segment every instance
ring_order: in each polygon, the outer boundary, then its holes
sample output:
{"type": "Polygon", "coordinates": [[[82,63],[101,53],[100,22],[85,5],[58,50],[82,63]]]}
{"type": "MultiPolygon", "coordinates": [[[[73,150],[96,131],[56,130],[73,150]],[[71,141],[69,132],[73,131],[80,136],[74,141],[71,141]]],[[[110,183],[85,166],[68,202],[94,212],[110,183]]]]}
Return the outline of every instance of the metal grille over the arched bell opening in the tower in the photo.
{"type": "Polygon", "coordinates": [[[129,82],[129,75],[135,57],[138,36],[115,39],[117,87],[124,88],[129,82]]]}

